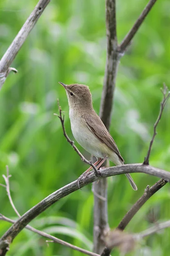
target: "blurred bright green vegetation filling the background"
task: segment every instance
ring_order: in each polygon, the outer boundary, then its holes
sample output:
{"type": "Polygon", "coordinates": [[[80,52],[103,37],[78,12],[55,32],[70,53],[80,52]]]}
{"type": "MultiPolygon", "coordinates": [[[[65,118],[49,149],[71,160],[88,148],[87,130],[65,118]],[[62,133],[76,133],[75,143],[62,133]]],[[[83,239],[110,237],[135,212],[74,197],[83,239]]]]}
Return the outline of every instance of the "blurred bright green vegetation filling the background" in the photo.
{"type": "MultiPolygon", "coordinates": [[[[0,2],[0,56],[36,5],[36,0],[0,2]]],[[[118,40],[124,38],[147,0],[117,1],[118,40]]],[[[121,59],[116,82],[111,134],[126,163],[144,160],[162,98],[163,82],[170,88],[170,1],[158,1],[121,59]]],[[[87,166],[62,135],[57,98],[65,111],[65,127],[71,134],[68,102],[58,84],[87,84],[99,112],[105,71],[105,1],[51,1],[28,36],[0,91],[0,183],[9,166],[11,195],[22,215],[50,193],[77,179],[87,166]]],[[[77,145],[77,144],[76,144],[77,145]]],[[[90,158],[79,145],[78,148],[90,158]]],[[[170,170],[170,101],[164,110],[153,144],[150,164],[170,170]]],[[[130,206],[158,178],[134,174],[134,192],[125,175],[108,179],[110,226],[116,227],[130,206]]],[[[47,209],[32,225],[87,250],[93,241],[91,185],[74,192],[47,209]]],[[[6,191],[0,187],[0,212],[16,219],[6,191]]],[[[136,214],[126,230],[140,232],[154,221],[170,218],[169,184],[157,192],[136,214]]],[[[10,227],[0,221],[0,236],[10,227]]],[[[129,255],[167,256],[170,230],[148,238],[129,255]]],[[[23,230],[11,244],[9,256],[79,256],[80,253],[23,230]]],[[[119,255],[118,251],[112,256],[119,255]]]]}

